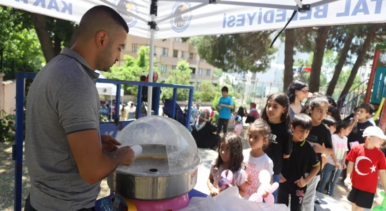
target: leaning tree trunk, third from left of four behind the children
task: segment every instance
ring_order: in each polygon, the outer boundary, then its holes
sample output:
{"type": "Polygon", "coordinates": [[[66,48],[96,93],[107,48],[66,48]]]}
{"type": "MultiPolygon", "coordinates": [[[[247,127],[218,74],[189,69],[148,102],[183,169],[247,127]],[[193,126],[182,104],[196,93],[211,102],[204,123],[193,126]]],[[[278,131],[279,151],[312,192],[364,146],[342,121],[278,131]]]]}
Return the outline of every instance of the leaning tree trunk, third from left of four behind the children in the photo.
{"type": "Polygon", "coordinates": [[[353,38],[354,38],[354,33],[350,32],[349,34],[346,35],[344,39],[344,46],[340,51],[339,61],[335,66],[334,75],[332,76],[330,84],[328,84],[326,95],[332,96],[332,94],[334,93],[335,86],[338,83],[339,75],[342,72],[342,68],[344,64],[346,63],[353,38]]]}

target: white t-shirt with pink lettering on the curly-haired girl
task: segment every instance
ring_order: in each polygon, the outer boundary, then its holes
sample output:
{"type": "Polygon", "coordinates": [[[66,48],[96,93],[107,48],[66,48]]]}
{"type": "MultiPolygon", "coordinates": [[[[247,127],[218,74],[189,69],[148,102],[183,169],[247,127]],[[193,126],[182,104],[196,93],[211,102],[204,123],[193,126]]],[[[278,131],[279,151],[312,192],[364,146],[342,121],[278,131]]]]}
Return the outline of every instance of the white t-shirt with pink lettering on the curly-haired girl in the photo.
{"type": "Polygon", "coordinates": [[[251,185],[245,187],[244,199],[249,199],[252,194],[257,192],[257,189],[260,186],[260,171],[265,169],[269,172],[269,174],[273,175],[273,162],[267,154],[264,154],[260,157],[252,157],[251,149],[243,150],[243,155],[245,163],[245,173],[247,173],[247,176],[250,177],[251,182],[251,185]]]}

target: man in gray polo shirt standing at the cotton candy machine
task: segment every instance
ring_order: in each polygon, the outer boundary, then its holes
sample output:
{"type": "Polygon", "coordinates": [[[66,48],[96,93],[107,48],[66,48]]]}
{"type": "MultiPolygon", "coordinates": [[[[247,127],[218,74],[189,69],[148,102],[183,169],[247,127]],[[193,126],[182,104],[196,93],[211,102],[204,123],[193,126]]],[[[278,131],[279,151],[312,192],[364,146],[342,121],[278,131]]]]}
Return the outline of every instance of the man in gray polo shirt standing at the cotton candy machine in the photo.
{"type": "Polygon", "coordinates": [[[134,152],[100,135],[96,69],[120,58],[129,29],[110,7],[80,21],[74,46],[39,71],[27,95],[25,160],[31,178],[25,211],[95,210],[100,181],[134,152]]]}

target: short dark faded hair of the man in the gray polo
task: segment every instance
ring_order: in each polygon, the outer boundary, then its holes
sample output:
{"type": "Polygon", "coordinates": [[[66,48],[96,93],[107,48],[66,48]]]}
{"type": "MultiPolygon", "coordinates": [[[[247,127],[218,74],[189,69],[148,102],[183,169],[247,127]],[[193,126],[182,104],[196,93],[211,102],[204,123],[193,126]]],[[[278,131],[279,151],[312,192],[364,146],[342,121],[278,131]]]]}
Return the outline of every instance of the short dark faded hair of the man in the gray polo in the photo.
{"type": "Polygon", "coordinates": [[[113,29],[116,26],[121,26],[129,33],[127,23],[117,11],[105,5],[98,5],[87,10],[82,16],[79,23],[79,34],[94,36],[99,30],[113,29]]]}

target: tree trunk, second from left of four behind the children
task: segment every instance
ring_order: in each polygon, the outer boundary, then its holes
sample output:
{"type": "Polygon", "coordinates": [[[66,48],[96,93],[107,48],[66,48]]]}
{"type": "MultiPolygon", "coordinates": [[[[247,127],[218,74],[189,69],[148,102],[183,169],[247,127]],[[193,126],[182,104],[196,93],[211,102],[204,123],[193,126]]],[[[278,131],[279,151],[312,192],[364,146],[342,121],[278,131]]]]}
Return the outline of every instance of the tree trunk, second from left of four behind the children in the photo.
{"type": "Polygon", "coordinates": [[[311,65],[310,83],[308,84],[308,89],[312,93],[319,91],[320,72],[322,69],[324,50],[327,44],[328,30],[330,30],[330,28],[330,26],[321,26],[318,29],[318,35],[315,41],[315,51],[311,65]]]}

